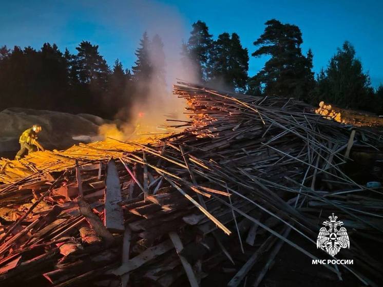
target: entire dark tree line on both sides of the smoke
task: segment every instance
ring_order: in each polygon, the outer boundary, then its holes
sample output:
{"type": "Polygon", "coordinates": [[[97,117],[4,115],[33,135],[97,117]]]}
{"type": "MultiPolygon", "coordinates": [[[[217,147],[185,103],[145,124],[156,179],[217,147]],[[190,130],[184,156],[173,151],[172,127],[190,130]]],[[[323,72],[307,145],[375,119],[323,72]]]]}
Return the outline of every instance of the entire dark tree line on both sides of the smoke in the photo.
{"type": "MultiPolygon", "coordinates": [[[[180,58],[185,70],[195,71],[198,82],[215,88],[383,113],[383,86],[372,88],[349,42],[337,49],[316,76],[313,52],[309,49],[303,54],[302,42],[298,26],[267,21],[251,56],[268,56],[269,60],[250,76],[248,50],[239,35],[224,32],[214,39],[206,23],[197,21],[181,45],[180,58]]],[[[0,110],[24,107],[126,119],[129,105],[145,101],[149,88],[166,90],[163,47],[159,35],[149,39],[145,32],[135,53],[135,65],[124,69],[119,60],[109,67],[99,46],[87,41],[81,42],[74,54],[49,43],[40,50],[3,46],[0,110]]]]}

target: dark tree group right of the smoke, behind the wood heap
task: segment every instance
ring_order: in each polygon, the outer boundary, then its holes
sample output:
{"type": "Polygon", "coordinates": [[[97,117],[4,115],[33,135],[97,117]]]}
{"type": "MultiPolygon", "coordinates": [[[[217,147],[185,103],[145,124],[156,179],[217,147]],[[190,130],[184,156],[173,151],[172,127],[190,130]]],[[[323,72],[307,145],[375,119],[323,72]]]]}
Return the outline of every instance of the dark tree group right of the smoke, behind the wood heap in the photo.
{"type": "Polygon", "coordinates": [[[301,50],[302,33],[298,26],[275,19],[265,23],[264,32],[254,42],[254,57],[269,56],[264,67],[248,76],[248,51],[239,36],[228,33],[213,40],[204,22],[193,24],[182,55],[197,63],[201,82],[213,84],[220,80],[228,90],[253,95],[293,97],[315,106],[320,101],[344,108],[383,113],[383,86],[376,90],[370,76],[363,72],[354,47],[344,42],[330,59],[327,67],[315,76],[313,52],[301,50]]]}

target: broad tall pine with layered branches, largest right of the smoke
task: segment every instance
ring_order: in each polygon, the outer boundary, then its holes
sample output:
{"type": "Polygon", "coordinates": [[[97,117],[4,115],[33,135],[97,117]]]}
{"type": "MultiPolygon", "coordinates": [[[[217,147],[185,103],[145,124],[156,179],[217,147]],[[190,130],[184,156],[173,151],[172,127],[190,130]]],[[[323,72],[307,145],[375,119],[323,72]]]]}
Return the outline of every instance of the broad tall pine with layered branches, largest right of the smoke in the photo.
{"type": "Polygon", "coordinates": [[[300,29],[275,19],[265,25],[263,34],[254,42],[260,47],[252,55],[271,58],[252,78],[251,85],[263,86],[266,94],[307,100],[313,86],[312,53],[302,55],[300,29]]]}

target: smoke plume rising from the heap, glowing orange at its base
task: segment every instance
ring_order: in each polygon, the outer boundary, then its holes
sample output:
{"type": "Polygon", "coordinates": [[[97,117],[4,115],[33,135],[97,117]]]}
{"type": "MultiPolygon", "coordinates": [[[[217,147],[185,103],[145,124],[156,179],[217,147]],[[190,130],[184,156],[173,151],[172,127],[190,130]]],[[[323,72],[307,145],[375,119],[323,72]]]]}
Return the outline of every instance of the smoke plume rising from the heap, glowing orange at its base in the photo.
{"type": "Polygon", "coordinates": [[[160,47],[152,46],[152,49],[147,51],[152,63],[152,76],[150,79],[140,81],[139,85],[136,85],[131,104],[128,107],[121,107],[116,116],[122,123],[102,126],[100,135],[104,137],[112,135],[118,139],[137,139],[148,134],[160,135],[176,131],[178,129],[166,126],[167,123],[173,125],[177,123],[166,122],[166,119],[185,120],[186,103],[172,94],[173,84],[177,78],[190,82],[197,80],[193,66],[185,65],[185,60],[181,61],[182,42],[187,40],[190,27],[175,8],[165,4],[132,1],[128,8],[139,21],[140,38],[144,31],[147,32],[150,41],[156,35],[160,36],[165,54],[165,78],[162,78],[163,57],[160,47]],[[162,82],[166,82],[165,88],[162,82]],[[126,113],[127,110],[129,114],[126,113]]]}

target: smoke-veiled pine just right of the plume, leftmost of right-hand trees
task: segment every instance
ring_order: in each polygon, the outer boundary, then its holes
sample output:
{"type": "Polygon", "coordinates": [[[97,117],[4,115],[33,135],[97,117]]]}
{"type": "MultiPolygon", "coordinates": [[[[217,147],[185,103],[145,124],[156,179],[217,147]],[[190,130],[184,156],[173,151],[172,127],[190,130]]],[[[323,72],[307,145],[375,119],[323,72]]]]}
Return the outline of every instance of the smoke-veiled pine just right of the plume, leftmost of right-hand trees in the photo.
{"type": "MultiPolygon", "coordinates": [[[[208,60],[213,48],[212,34],[209,34],[205,22],[197,21],[192,25],[193,30],[190,32],[187,44],[182,45],[181,55],[184,62],[193,65],[197,73],[197,78],[201,81],[208,79],[208,60]]],[[[189,67],[187,67],[189,68],[189,67]]]]}

